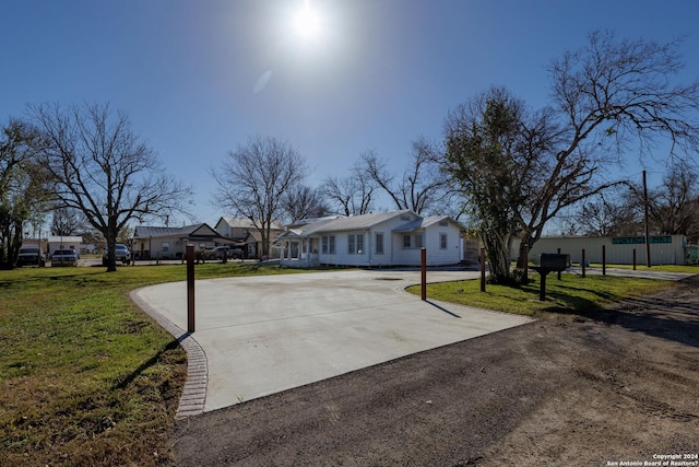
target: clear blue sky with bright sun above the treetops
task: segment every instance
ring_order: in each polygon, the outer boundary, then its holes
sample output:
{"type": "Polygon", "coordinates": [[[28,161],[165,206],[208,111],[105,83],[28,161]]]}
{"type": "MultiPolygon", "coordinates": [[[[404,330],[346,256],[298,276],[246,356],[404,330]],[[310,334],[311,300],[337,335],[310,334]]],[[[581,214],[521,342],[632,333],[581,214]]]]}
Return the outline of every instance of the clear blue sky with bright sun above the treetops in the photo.
{"type": "Polygon", "coordinates": [[[308,160],[311,186],[346,175],[366,150],[398,174],[413,140],[438,140],[448,110],[490,85],[545,105],[546,66],[600,28],[659,42],[686,34],[683,78],[699,77],[692,0],[309,4],[312,37],[294,24],[305,0],[3,0],[0,121],[26,104],[109,102],[194,187],[192,211],[213,225],[227,212],[211,203],[210,171],[250,135],[287,140],[308,160]]]}

